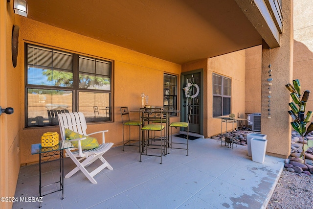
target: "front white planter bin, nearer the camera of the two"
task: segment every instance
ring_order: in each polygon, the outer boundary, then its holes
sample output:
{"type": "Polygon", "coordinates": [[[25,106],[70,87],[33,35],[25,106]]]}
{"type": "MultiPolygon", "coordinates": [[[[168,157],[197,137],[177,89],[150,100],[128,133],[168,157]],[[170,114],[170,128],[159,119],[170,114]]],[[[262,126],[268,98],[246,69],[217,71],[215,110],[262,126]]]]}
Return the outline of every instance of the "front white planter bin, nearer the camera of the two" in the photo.
{"type": "Polygon", "coordinates": [[[257,163],[264,163],[268,140],[252,138],[250,142],[251,142],[252,161],[257,163]]]}

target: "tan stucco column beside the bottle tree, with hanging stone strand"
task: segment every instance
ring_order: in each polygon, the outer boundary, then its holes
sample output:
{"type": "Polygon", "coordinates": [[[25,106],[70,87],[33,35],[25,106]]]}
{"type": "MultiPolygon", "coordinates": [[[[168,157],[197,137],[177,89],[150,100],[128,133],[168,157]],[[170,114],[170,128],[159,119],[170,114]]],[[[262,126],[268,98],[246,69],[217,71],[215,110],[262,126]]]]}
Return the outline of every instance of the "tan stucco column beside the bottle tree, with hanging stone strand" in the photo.
{"type": "Polygon", "coordinates": [[[280,47],[269,49],[265,42],[262,47],[261,133],[267,135],[267,154],[287,158],[291,149],[291,118],[288,114],[291,97],[285,85],[292,82],[293,73],[293,0],[285,0],[282,11],[284,28],[280,47]],[[268,81],[268,78],[273,80],[268,81]],[[270,94],[268,83],[272,83],[270,94]]]}

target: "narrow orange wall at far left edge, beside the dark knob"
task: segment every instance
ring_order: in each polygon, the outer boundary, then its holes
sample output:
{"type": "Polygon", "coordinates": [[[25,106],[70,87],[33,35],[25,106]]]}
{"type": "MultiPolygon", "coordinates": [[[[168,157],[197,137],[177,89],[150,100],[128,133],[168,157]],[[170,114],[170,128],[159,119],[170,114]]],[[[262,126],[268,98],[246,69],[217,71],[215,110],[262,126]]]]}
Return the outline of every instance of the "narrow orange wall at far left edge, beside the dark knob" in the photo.
{"type": "MultiPolygon", "coordinates": [[[[20,169],[20,67],[13,68],[11,37],[13,25],[20,18],[13,13],[13,1],[0,2],[0,106],[13,107],[14,114],[0,116],[0,187],[1,197],[14,196],[20,169]]],[[[18,56],[21,56],[19,53],[18,56]]],[[[1,208],[11,208],[12,202],[1,202],[1,208]]]]}

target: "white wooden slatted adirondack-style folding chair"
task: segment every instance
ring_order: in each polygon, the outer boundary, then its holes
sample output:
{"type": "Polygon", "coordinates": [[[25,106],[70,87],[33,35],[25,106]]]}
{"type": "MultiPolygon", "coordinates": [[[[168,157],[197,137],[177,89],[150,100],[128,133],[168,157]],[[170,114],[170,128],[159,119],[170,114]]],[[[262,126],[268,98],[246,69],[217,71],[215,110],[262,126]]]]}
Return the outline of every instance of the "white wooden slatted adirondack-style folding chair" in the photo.
{"type": "Polygon", "coordinates": [[[104,168],[108,167],[108,169],[112,170],[112,166],[102,157],[104,153],[106,153],[113,145],[112,142],[105,143],[104,133],[105,131],[98,131],[91,134],[86,134],[87,124],[86,119],[83,113],[62,113],[58,114],[60,133],[62,140],[65,140],[65,129],[72,130],[76,133],[79,133],[84,136],[89,136],[93,134],[102,133],[102,143],[99,147],[91,150],[83,150],[81,147],[81,140],[86,139],[73,139],[78,140],[79,147],[78,150],[76,148],[66,149],[66,156],[70,157],[72,161],[77,165],[73,170],[71,170],[65,178],[71,177],[77,171],[81,170],[85,176],[89,179],[92,184],[97,184],[96,180],[93,178],[97,173],[99,173],[104,168]],[[75,150],[76,149],[76,150],[75,150]],[[92,172],[89,172],[86,167],[91,163],[95,162],[99,159],[102,164],[94,169],[92,172]]]}

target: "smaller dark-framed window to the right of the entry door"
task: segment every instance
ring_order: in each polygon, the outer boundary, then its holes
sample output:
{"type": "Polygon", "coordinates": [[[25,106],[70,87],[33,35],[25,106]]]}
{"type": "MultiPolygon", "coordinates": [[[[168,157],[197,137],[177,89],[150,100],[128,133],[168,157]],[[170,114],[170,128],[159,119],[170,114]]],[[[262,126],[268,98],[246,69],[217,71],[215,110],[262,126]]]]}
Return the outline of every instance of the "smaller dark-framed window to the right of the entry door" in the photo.
{"type": "Polygon", "coordinates": [[[230,114],[230,78],[213,73],[213,117],[230,114]]]}

